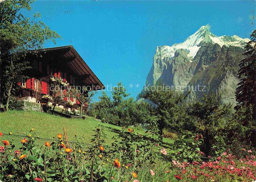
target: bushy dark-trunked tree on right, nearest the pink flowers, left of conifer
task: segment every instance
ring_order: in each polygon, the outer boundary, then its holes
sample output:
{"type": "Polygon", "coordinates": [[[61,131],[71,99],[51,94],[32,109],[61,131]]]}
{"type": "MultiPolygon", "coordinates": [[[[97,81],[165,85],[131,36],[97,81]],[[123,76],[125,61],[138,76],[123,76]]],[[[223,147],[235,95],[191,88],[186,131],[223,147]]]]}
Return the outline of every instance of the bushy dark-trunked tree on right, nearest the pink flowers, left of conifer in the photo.
{"type": "Polygon", "coordinates": [[[188,106],[188,115],[194,117],[190,131],[204,137],[204,152],[210,155],[211,146],[216,142],[215,136],[222,136],[225,130],[226,117],[230,115],[230,105],[222,105],[214,95],[206,95],[202,100],[191,102],[188,106]]]}

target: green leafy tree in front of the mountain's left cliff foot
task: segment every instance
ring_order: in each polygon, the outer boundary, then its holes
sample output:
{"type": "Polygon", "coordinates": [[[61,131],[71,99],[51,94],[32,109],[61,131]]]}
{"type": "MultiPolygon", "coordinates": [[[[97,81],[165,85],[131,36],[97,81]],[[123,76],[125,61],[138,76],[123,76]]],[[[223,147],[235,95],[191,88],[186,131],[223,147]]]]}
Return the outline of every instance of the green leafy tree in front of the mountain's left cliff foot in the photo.
{"type": "Polygon", "coordinates": [[[185,118],[180,108],[186,96],[161,82],[157,82],[155,85],[145,88],[140,97],[150,101],[154,107],[153,115],[157,116],[161,140],[164,128],[179,129],[179,124],[185,118]]]}

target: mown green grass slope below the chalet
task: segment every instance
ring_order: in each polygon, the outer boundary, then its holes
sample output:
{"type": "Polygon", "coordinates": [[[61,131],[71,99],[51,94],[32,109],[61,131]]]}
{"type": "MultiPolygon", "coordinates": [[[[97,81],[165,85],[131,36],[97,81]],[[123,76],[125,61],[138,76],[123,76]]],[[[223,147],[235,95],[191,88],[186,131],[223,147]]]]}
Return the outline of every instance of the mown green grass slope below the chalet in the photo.
{"type": "MultiPolygon", "coordinates": [[[[93,130],[97,126],[105,128],[106,144],[108,145],[111,145],[112,137],[118,135],[118,132],[121,131],[121,127],[102,123],[93,117],[87,117],[85,120],[68,119],[34,111],[8,111],[0,113],[0,132],[2,133],[12,132],[13,134],[24,135],[24,133],[29,133],[31,128],[34,128],[34,133],[37,133],[40,138],[52,139],[58,133],[63,133],[63,127],[65,127],[69,141],[74,141],[75,135],[77,135],[78,138],[84,138],[84,143],[90,143],[91,135],[94,135],[93,130]]],[[[136,128],[135,131],[144,133],[143,130],[136,128]]],[[[16,143],[21,137],[3,135],[1,140],[4,139],[15,139],[16,143]]],[[[40,139],[38,142],[43,143],[45,140],[40,139]]],[[[173,143],[173,140],[165,138],[164,142],[173,143]]]]}

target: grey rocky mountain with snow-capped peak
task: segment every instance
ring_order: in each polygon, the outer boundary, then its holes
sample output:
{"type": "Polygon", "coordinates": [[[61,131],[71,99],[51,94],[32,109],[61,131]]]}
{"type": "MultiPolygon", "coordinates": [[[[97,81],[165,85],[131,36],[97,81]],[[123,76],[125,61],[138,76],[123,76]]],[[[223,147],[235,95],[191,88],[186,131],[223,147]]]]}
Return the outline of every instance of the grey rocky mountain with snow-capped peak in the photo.
{"type": "Polygon", "coordinates": [[[236,35],[216,36],[203,26],[182,43],[157,47],[147,84],[161,80],[184,93],[190,91],[190,99],[216,93],[222,102],[234,105],[239,63],[248,41],[236,35]]]}

